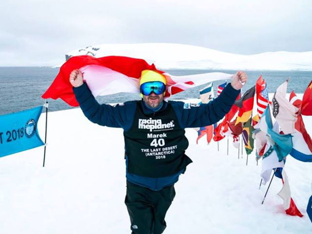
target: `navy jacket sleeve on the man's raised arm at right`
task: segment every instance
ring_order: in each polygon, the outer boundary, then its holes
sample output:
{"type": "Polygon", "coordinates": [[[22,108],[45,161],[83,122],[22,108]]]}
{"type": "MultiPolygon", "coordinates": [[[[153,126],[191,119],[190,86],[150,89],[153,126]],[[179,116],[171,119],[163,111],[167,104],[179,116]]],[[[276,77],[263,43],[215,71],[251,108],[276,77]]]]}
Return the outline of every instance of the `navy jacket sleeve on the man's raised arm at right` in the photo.
{"type": "Polygon", "coordinates": [[[212,125],[222,119],[232,108],[240,90],[229,83],[219,97],[207,104],[184,108],[184,102],[172,102],[181,128],[195,128],[212,125]]]}

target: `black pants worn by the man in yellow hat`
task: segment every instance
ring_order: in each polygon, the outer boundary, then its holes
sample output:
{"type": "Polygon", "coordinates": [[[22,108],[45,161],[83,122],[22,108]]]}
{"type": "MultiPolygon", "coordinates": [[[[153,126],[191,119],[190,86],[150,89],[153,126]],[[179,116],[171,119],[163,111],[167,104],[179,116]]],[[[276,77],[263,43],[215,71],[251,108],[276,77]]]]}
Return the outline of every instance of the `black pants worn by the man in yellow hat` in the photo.
{"type": "Polygon", "coordinates": [[[125,203],[132,234],[161,234],[166,228],[165,215],[176,195],[174,185],[160,191],[127,181],[125,203]]]}

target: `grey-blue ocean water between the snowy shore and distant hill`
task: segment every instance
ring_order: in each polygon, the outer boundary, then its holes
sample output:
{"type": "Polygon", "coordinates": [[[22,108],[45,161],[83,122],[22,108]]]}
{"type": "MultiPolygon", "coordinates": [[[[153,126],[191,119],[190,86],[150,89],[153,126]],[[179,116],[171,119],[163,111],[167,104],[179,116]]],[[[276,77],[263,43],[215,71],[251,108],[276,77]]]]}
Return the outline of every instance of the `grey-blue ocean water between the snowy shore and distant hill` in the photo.
{"type": "MultiPolygon", "coordinates": [[[[165,70],[166,72],[182,76],[207,72],[225,72],[234,74],[236,71],[222,70],[165,70]]],[[[59,68],[51,67],[0,67],[0,115],[19,112],[44,104],[41,95],[49,88],[54,78],[59,73],[59,68]]],[[[303,93],[312,80],[312,72],[306,71],[246,71],[248,83],[243,92],[255,84],[256,79],[262,74],[266,79],[269,93],[274,93],[276,88],[286,78],[290,78],[288,92],[294,90],[303,93]]],[[[228,80],[229,81],[229,80],[228,80]]],[[[214,82],[216,92],[217,86],[224,81],[214,82]]],[[[171,99],[199,98],[199,92],[205,85],[186,90],[172,96],[171,99]]],[[[120,103],[129,100],[140,99],[139,95],[119,93],[105,97],[98,97],[99,103],[120,103]]],[[[48,99],[49,111],[70,109],[62,100],[48,99]]]]}

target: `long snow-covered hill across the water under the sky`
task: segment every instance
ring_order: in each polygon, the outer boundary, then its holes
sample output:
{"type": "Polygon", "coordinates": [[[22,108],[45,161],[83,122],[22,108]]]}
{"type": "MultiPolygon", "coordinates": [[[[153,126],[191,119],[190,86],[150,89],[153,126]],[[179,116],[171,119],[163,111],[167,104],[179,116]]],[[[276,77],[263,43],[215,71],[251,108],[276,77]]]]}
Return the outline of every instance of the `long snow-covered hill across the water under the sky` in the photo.
{"type": "Polygon", "coordinates": [[[312,71],[312,51],[238,55],[173,43],[100,44],[71,51],[66,54],[66,60],[78,55],[97,58],[111,55],[127,56],[145,59],[162,69],[312,71]]]}

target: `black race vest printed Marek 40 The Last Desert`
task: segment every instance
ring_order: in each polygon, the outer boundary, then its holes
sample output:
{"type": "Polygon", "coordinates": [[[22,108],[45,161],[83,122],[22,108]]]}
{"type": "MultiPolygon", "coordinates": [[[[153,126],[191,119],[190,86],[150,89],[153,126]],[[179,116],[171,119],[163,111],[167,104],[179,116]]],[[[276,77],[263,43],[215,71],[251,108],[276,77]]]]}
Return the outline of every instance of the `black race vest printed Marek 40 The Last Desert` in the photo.
{"type": "Polygon", "coordinates": [[[157,178],[185,169],[192,160],[184,154],[189,146],[184,134],[170,102],[164,111],[145,115],[138,101],[132,127],[123,133],[128,173],[157,178]]]}

